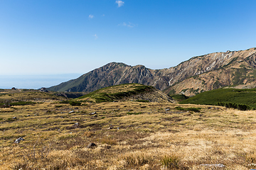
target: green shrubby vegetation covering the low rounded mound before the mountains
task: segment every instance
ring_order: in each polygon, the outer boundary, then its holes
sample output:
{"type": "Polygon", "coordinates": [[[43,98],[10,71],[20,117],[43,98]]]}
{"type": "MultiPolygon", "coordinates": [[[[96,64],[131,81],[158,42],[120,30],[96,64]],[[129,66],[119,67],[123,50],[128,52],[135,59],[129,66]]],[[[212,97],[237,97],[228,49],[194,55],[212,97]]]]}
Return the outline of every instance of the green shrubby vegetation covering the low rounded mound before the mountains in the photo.
{"type": "MultiPolygon", "coordinates": [[[[95,99],[96,103],[102,103],[102,102],[107,102],[107,101],[119,101],[122,98],[125,97],[130,97],[133,95],[137,95],[137,94],[142,94],[142,93],[146,93],[149,91],[152,91],[154,89],[154,87],[152,86],[145,86],[142,84],[120,84],[120,85],[116,85],[116,86],[110,86],[110,87],[105,87],[102,89],[99,89],[97,91],[93,91],[90,94],[86,94],[85,96],[81,96],[78,99],[82,99],[82,98],[92,98],[95,99]],[[126,91],[127,86],[129,85],[129,89],[126,91]],[[121,90],[119,90],[119,92],[105,92],[105,91],[111,91],[110,88],[119,88],[121,90]]],[[[142,101],[142,100],[141,100],[142,101]]],[[[142,102],[148,102],[148,101],[142,101],[142,102]]]]}

